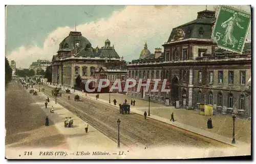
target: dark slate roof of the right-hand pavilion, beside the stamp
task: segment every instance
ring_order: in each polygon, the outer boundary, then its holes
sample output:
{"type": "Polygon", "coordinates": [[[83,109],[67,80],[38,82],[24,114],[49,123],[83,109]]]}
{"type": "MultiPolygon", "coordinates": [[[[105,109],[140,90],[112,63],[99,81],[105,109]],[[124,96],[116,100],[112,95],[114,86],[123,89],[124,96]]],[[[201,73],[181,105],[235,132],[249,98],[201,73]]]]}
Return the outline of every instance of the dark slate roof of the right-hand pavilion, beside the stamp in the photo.
{"type": "Polygon", "coordinates": [[[176,29],[182,29],[187,38],[210,39],[212,22],[216,20],[215,12],[204,10],[198,12],[196,20],[178,26],[172,30],[167,42],[170,42],[176,34],[176,29]]]}

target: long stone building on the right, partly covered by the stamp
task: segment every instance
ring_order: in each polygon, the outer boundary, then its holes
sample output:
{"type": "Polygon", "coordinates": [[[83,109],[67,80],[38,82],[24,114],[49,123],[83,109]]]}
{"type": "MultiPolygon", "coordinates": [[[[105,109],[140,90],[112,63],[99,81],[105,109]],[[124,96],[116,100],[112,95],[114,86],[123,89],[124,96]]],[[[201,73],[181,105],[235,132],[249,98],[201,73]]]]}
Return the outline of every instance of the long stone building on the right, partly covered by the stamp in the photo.
{"type": "MultiPolygon", "coordinates": [[[[251,115],[251,92],[247,84],[251,77],[251,43],[246,42],[243,54],[218,49],[211,41],[215,22],[214,11],[198,12],[197,19],[176,27],[163,44],[163,54],[153,55],[145,44],[138,60],[127,63],[129,78],[167,79],[161,92],[139,92],[131,88],[129,95],[152,101],[169,102],[187,109],[198,108],[200,103],[215,105],[216,112],[251,115]]],[[[151,81],[150,90],[154,82],[151,81]]]]}

